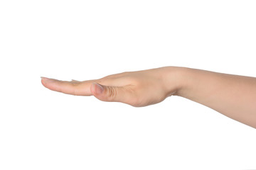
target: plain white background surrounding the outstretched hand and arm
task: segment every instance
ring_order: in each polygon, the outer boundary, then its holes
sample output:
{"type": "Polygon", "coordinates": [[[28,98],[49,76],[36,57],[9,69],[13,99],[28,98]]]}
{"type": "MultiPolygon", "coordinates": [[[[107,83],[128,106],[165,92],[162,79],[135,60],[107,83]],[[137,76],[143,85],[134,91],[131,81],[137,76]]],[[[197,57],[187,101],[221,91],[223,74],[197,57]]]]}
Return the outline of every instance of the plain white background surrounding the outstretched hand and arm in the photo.
{"type": "MultiPolygon", "coordinates": [[[[0,169],[256,169],[256,132],[185,98],[50,91],[164,66],[256,77],[256,1],[0,1],[0,169]]],[[[239,98],[239,96],[238,96],[239,98]]]]}

